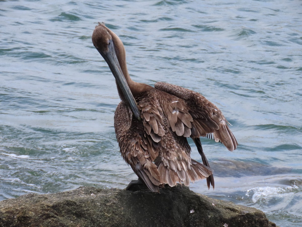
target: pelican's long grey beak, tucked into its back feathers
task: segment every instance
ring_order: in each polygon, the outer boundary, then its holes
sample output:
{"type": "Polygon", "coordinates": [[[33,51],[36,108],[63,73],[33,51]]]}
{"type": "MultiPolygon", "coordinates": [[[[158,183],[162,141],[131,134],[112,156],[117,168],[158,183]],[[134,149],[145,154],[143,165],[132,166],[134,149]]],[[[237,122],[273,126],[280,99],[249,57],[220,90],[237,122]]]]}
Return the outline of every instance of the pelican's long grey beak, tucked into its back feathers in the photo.
{"type": "Polygon", "coordinates": [[[102,55],[102,57],[105,59],[105,61],[107,62],[112,74],[114,75],[114,78],[117,81],[117,84],[120,86],[124,97],[126,98],[130,109],[133,113],[133,115],[137,118],[137,120],[142,120],[140,117],[140,110],[137,107],[137,103],[133,97],[133,94],[127,84],[127,81],[124,77],[124,74],[120,68],[120,64],[117,60],[117,56],[115,54],[115,50],[114,50],[114,45],[112,40],[110,40],[110,44],[108,45],[109,51],[107,52],[103,52],[98,50],[98,52],[102,55]]]}

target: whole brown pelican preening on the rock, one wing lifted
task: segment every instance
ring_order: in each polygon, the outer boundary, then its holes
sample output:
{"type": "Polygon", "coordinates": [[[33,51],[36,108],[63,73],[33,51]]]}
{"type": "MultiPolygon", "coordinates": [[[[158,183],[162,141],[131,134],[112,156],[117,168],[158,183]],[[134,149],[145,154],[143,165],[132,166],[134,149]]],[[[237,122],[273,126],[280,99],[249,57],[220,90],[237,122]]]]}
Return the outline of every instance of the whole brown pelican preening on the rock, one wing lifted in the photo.
{"type": "Polygon", "coordinates": [[[165,184],[175,186],[214,178],[199,137],[213,135],[228,150],[238,143],[221,111],[201,94],[180,86],[157,82],[154,87],[131,80],[122,41],[104,23],[98,23],[92,42],[115,77],[121,102],[114,114],[120,153],[137,174],[133,184],[143,183],[152,192],[165,184]],[[203,164],[191,159],[191,137],[203,164]]]}

